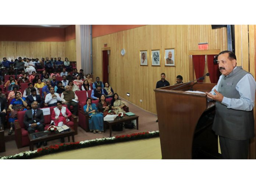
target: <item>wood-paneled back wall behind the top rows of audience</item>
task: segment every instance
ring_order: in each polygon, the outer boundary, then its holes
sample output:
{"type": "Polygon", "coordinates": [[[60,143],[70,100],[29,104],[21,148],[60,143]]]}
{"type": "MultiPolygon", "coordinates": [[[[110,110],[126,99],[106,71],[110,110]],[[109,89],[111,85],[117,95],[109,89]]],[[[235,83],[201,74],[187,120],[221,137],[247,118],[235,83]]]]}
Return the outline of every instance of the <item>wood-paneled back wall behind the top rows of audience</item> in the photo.
{"type": "MultiPolygon", "coordinates": [[[[6,57],[9,61],[18,57],[46,58],[68,57],[76,61],[75,39],[67,42],[14,42],[0,41],[0,59],[6,57]]],[[[2,60],[1,60],[2,61],[2,60]]]]}

